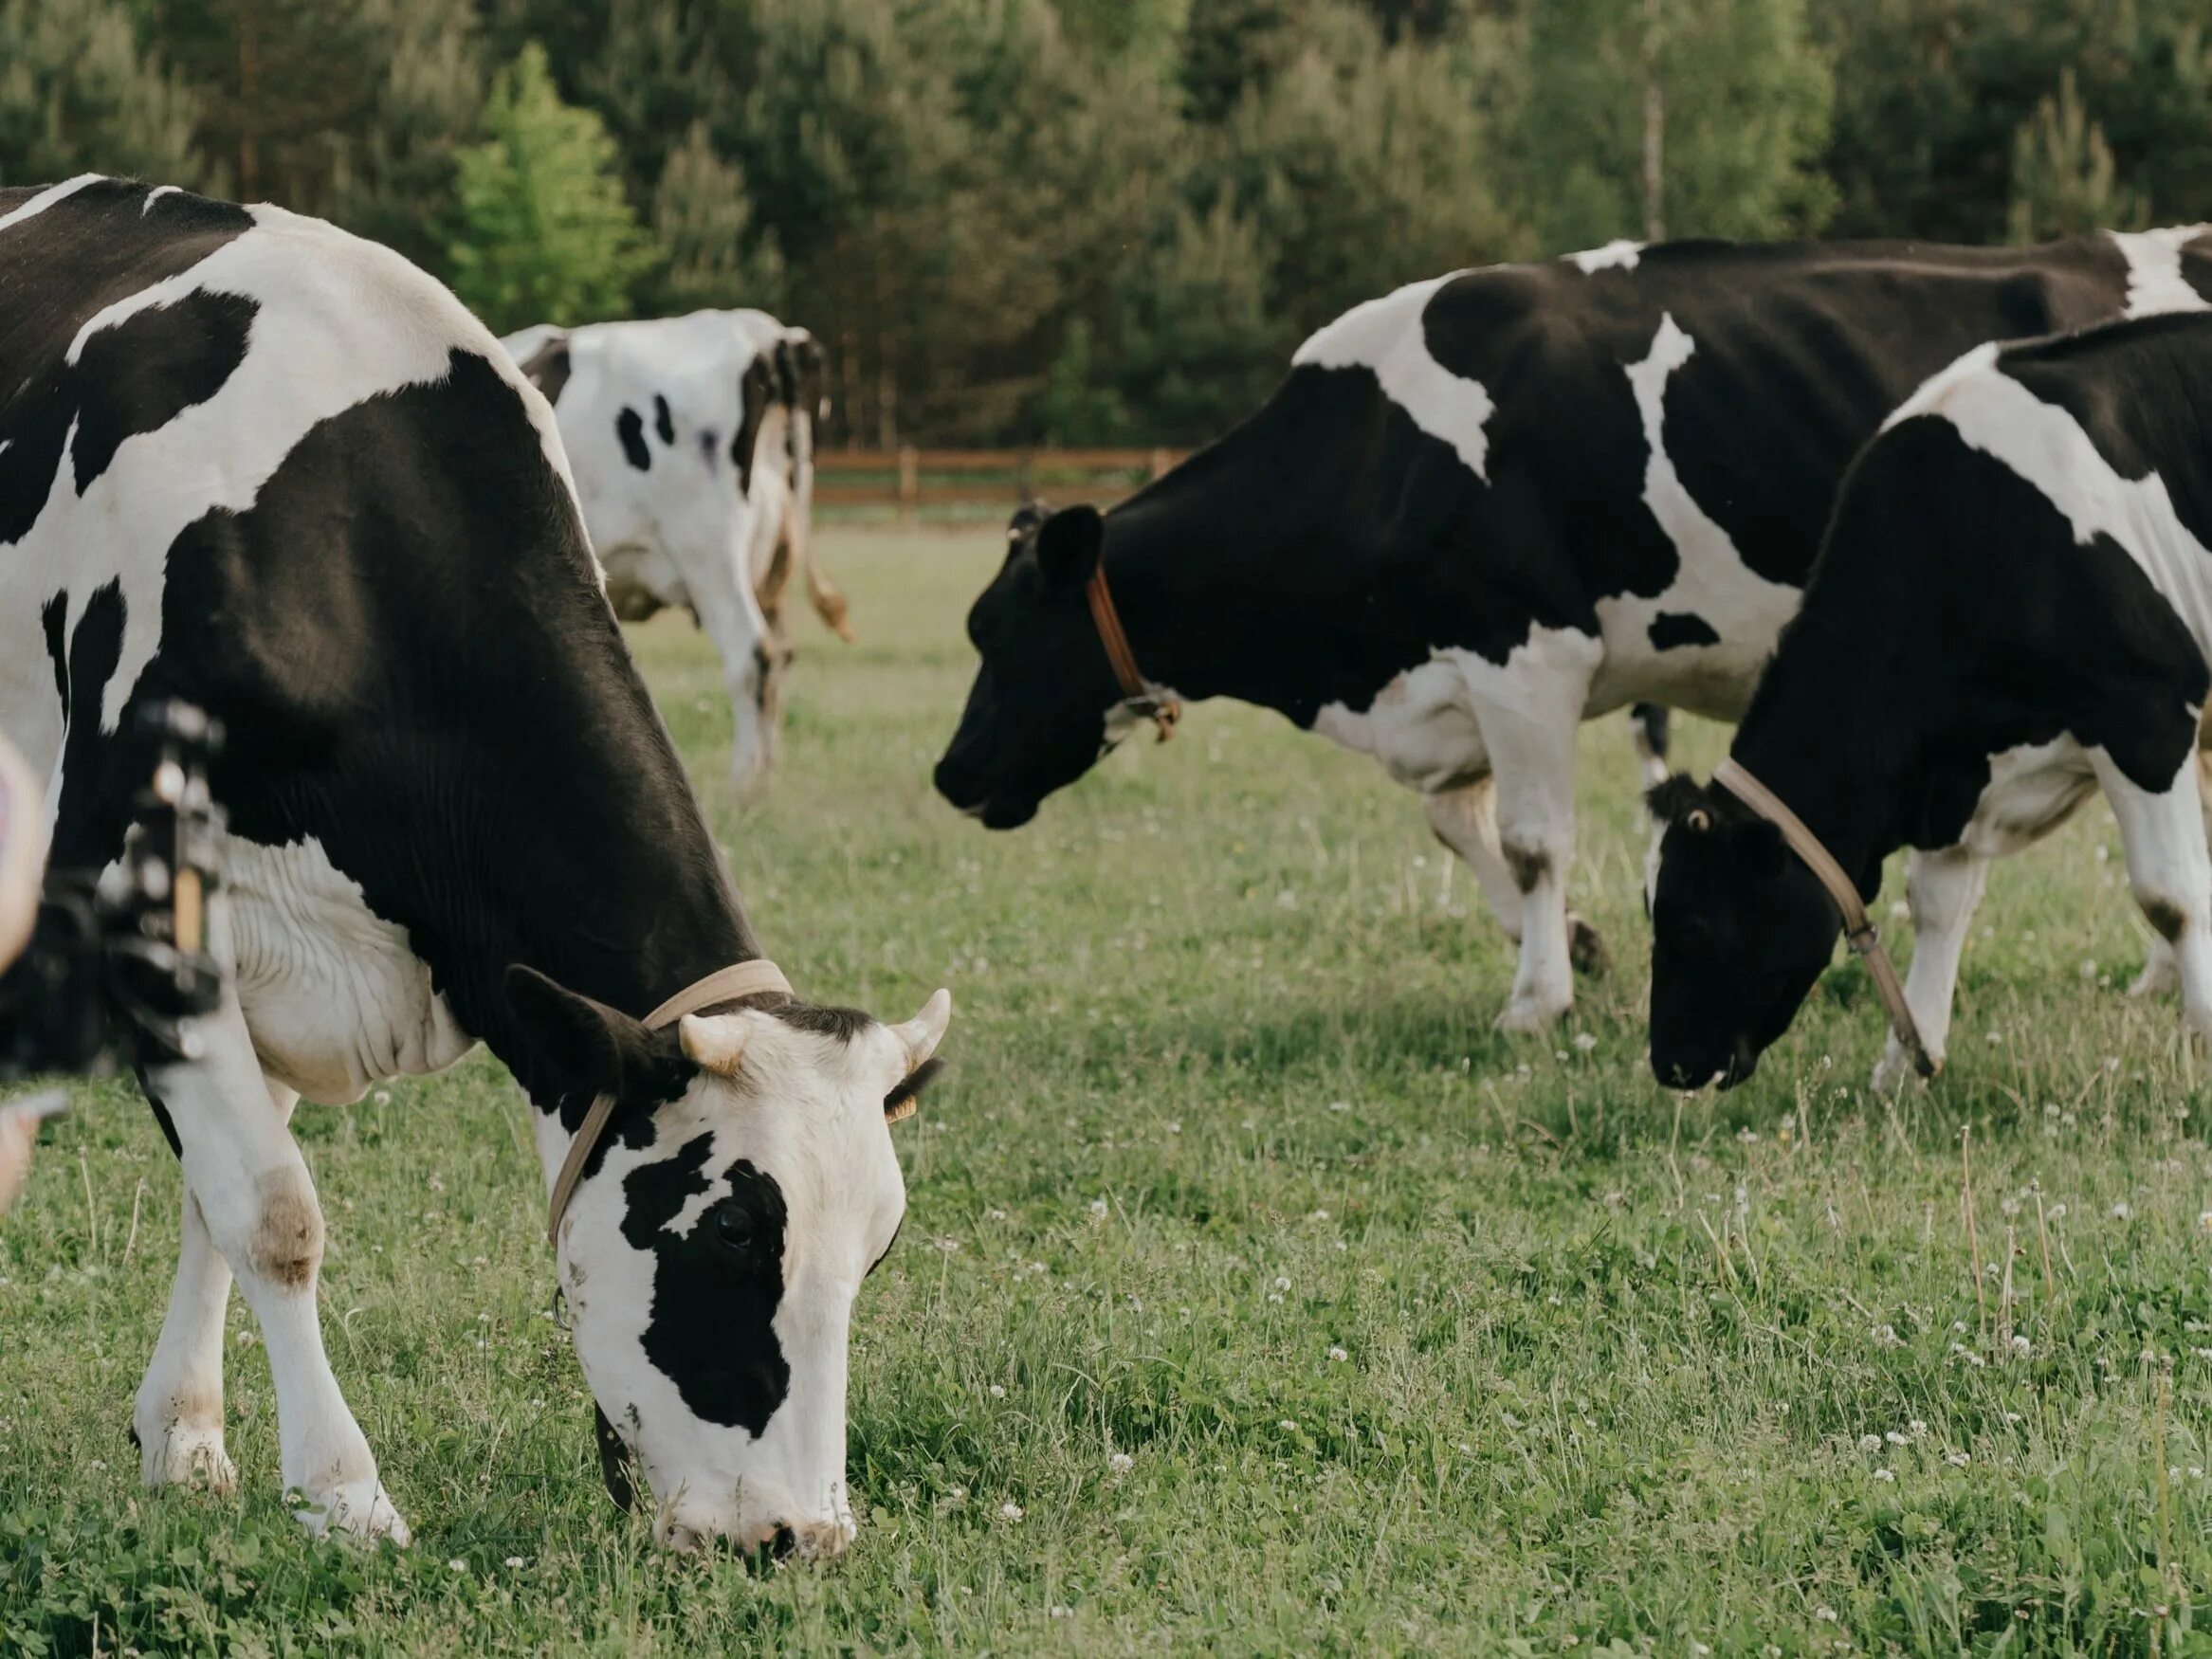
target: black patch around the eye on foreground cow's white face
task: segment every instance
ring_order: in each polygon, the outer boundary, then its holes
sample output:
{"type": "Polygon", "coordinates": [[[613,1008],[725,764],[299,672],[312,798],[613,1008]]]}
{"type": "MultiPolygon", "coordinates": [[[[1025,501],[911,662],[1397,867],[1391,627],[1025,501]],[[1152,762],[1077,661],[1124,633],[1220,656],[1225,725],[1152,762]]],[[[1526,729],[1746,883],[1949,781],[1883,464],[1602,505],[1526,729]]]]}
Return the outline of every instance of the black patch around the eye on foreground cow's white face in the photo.
{"type": "Polygon", "coordinates": [[[774,1327],[787,1217],[774,1179],[739,1159],[723,1172],[730,1194],[708,1206],[690,1232],[668,1232],[684,1206],[710,1188],[712,1150],[714,1137],[699,1135],[675,1157],[630,1170],[622,1181],[622,1237],[653,1252],[646,1358],[695,1416],[759,1436],[792,1387],[774,1327]]]}

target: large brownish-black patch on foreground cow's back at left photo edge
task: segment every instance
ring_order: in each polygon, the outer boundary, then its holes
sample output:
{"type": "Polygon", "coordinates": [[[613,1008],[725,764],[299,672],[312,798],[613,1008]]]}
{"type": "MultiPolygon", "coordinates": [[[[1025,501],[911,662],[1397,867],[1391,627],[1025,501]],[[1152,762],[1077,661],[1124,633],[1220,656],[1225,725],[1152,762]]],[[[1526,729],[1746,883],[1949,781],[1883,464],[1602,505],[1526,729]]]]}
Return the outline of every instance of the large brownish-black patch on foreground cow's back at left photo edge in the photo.
{"type": "MultiPolygon", "coordinates": [[[[33,195],[0,190],[0,217],[33,195]]],[[[86,403],[108,400],[100,376],[113,374],[117,358],[95,334],[84,358],[69,363],[77,332],[108,305],[190,270],[254,223],[228,201],[181,190],[153,204],[146,197],[144,184],[100,179],[0,230],[0,363],[7,365],[0,376],[0,546],[20,542],[46,509],[69,429],[86,403]]],[[[179,321],[148,321],[139,330],[137,338],[159,343],[159,363],[144,374],[128,367],[133,407],[100,416],[117,427],[117,442],[128,431],[150,431],[166,418],[155,418],[161,409],[175,414],[192,400],[168,383],[170,372],[186,367],[204,383],[179,321]]]]}

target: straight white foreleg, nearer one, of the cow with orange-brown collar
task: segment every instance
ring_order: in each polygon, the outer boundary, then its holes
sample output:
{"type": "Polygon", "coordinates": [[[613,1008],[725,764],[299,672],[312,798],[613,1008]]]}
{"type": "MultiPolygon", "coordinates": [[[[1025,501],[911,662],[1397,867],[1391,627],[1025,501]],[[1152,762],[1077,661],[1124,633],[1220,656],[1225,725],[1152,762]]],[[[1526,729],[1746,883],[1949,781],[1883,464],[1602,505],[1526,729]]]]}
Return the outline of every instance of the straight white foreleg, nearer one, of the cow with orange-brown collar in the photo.
{"type": "Polygon", "coordinates": [[[1575,858],[1575,728],[1604,657],[1597,639],[1537,630],[1504,668],[1464,664],[1498,779],[1498,849],[1522,894],[1522,951],[1500,1031],[1542,1031],[1575,1000],[1575,960],[1595,967],[1597,931],[1566,911],[1575,858]],[[1577,945],[1579,933],[1579,945],[1577,945]]]}

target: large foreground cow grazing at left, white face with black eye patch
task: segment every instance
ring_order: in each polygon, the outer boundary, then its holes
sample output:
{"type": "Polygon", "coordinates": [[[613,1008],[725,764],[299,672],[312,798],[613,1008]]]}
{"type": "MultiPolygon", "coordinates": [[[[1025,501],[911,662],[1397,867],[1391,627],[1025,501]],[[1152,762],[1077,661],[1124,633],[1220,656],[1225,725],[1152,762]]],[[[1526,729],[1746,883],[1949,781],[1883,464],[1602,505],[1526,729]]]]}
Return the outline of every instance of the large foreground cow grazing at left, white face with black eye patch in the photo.
{"type": "Polygon", "coordinates": [[[323,1354],[288,1119],[482,1040],[535,1106],[611,1486],[635,1464],[670,1544],[841,1551],[887,1121],[951,1004],[885,1026],[759,962],[544,398],[385,248],[100,177],[0,190],[0,728],[51,860],[124,852],[139,706],[228,728],[230,989],[195,1064],[144,1073],[186,1181],[146,1480],[234,1480],[237,1274],[301,1520],[407,1537],[323,1354]]]}

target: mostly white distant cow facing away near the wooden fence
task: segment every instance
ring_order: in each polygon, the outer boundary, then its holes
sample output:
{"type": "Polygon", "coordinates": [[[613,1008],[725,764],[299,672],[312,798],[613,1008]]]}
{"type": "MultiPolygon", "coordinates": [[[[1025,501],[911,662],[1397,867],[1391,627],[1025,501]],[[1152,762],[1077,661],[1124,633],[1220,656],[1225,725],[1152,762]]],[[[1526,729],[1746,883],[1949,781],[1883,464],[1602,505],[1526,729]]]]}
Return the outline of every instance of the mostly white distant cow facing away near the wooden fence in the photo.
{"type": "Polygon", "coordinates": [[[626,622],[686,606],[730,690],[730,779],[768,785],[799,573],[852,639],[845,597],[812,557],[821,345],[768,312],[526,327],[502,341],[546,394],[575,467],[584,524],[626,622]]]}

